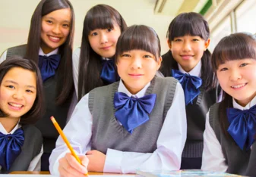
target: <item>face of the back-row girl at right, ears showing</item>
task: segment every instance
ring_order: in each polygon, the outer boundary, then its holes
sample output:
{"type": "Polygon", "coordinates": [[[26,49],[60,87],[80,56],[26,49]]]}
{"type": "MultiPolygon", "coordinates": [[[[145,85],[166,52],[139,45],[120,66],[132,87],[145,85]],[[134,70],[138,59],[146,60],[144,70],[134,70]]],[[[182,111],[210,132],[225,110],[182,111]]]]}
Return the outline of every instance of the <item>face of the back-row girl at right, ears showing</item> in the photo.
{"type": "Polygon", "coordinates": [[[204,41],[200,36],[187,35],[175,37],[172,41],[168,40],[172,57],[186,72],[191,71],[198,64],[209,44],[210,39],[204,41]]]}

